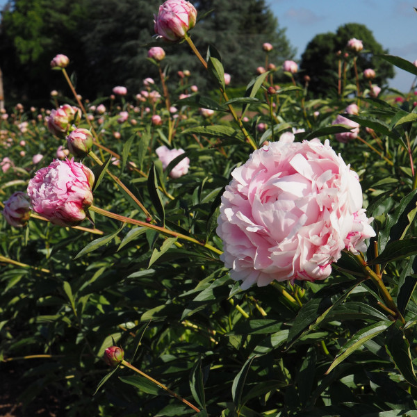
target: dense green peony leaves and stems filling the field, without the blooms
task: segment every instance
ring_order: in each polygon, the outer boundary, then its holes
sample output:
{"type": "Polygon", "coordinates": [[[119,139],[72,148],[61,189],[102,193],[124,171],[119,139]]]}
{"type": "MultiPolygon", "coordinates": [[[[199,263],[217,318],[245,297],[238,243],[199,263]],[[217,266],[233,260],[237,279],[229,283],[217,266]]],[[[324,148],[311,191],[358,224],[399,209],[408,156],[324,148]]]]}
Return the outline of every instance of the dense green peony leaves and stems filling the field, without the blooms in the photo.
{"type": "MultiPolygon", "coordinates": [[[[401,58],[384,59],[417,74],[401,58]]],[[[155,65],[163,74],[165,62],[155,65]]],[[[0,358],[16,364],[18,400],[56,400],[65,416],[416,416],[414,95],[375,99],[346,88],[309,99],[278,71],[229,99],[213,47],[207,66],[209,95],[191,94],[192,74],[166,94],[164,76],[143,85],[145,101],[83,101],[79,127],[97,134],[83,159],[97,179],[90,221],[57,227],[32,215],[18,229],[1,217],[0,358]],[[287,82],[271,92],[277,76],[287,82]],[[150,99],[153,89],[161,97],[150,99]],[[359,114],[345,116],[360,124],[359,136],[338,142],[348,129],[332,122],[353,103],[359,114]],[[119,121],[121,111],[128,120],[119,121]],[[295,140],[328,139],[357,172],[377,236],[366,254],[343,252],[324,281],[242,291],[220,260],[220,196],[235,167],[291,128],[304,129],[295,140]],[[161,145],[186,153],[163,170],[161,145]],[[184,156],[188,174],[172,179],[184,156]],[[115,343],[125,361],[109,370],[101,359],[115,343]]],[[[61,95],[54,106],[74,100],[61,95]]],[[[2,201],[65,145],[47,130],[47,113],[2,113],[2,201]]]]}

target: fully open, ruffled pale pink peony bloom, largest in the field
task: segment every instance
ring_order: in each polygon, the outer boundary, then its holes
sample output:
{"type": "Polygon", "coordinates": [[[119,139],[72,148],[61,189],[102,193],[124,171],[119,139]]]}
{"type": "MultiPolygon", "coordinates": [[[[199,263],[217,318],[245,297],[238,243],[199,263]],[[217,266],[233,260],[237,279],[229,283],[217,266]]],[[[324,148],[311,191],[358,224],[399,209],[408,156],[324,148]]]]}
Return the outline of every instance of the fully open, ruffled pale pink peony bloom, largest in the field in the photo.
{"type": "Polygon", "coordinates": [[[357,174],[328,140],[272,142],[232,177],[217,233],[220,258],[242,289],[325,279],[342,250],[363,251],[363,240],[375,236],[357,174]]]}

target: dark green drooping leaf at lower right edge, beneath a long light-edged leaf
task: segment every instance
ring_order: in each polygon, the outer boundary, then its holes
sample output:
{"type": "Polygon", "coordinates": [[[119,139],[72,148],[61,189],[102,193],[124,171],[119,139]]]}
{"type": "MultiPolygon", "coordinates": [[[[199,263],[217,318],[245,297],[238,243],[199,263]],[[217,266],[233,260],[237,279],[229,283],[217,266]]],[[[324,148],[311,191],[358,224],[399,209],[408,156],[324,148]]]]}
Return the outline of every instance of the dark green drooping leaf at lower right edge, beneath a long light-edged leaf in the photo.
{"type": "Polygon", "coordinates": [[[417,377],[414,372],[413,362],[410,353],[410,344],[404,336],[404,332],[397,326],[392,326],[385,336],[386,352],[393,360],[404,379],[411,385],[417,387],[417,377]]]}

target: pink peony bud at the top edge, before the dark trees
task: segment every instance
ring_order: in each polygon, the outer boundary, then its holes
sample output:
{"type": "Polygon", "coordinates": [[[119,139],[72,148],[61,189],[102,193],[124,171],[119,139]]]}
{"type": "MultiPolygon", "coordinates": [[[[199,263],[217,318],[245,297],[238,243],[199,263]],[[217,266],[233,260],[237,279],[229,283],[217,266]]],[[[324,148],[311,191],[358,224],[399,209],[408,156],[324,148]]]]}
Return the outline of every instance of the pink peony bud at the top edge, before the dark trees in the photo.
{"type": "Polygon", "coordinates": [[[175,42],[195,26],[197,10],[189,1],[167,0],[159,6],[158,16],[154,17],[157,38],[175,42]]]}

